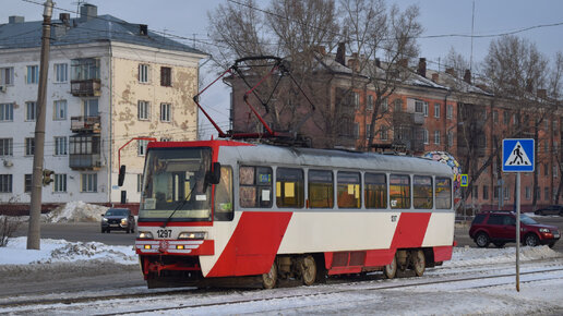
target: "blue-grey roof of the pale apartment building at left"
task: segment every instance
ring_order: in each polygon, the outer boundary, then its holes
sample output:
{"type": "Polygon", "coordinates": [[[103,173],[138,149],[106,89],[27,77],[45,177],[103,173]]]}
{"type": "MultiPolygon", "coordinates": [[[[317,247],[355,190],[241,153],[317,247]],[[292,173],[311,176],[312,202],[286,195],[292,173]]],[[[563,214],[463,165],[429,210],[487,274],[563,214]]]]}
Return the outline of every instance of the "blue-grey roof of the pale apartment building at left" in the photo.
{"type": "MultiPolygon", "coordinates": [[[[53,20],[51,46],[106,40],[206,54],[191,46],[156,34],[147,29],[146,25],[129,23],[112,15],[97,15],[96,11],[91,15],[84,16],[83,13],[81,17],[67,21],[53,20]]],[[[0,24],[0,49],[40,47],[41,27],[43,21],[23,22],[23,17],[11,16],[10,23],[0,24]]]]}

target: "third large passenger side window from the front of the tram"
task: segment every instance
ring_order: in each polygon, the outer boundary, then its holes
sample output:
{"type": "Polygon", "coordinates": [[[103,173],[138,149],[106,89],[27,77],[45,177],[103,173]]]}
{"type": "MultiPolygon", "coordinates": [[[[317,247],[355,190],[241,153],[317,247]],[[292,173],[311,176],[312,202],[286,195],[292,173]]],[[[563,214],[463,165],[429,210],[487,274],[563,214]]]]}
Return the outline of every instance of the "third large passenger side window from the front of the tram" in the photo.
{"type": "Polygon", "coordinates": [[[333,172],[328,170],[309,170],[309,205],[311,208],[333,208],[333,172]]]}

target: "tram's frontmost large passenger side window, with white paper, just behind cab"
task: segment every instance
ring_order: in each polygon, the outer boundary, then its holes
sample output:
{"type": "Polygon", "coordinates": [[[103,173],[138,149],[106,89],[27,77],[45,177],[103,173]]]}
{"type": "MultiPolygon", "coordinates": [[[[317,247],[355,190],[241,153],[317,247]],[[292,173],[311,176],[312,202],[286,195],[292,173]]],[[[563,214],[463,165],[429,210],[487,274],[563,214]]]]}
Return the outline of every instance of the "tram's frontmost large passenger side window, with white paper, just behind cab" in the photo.
{"type": "Polygon", "coordinates": [[[241,207],[272,207],[272,168],[241,166],[239,181],[241,207]]]}

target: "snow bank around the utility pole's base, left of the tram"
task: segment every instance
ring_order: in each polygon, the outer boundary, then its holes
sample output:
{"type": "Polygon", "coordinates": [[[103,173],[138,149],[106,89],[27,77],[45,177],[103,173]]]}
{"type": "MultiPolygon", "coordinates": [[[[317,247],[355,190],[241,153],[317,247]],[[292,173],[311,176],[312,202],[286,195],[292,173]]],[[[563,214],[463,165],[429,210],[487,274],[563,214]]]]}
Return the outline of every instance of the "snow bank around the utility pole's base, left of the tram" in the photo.
{"type": "MultiPolygon", "coordinates": [[[[99,215],[98,215],[99,216],[99,215]]],[[[27,238],[10,239],[0,248],[0,265],[76,263],[81,260],[111,262],[135,265],[137,257],[132,246],[108,246],[98,242],[67,242],[43,239],[40,250],[26,250],[27,238]]]]}

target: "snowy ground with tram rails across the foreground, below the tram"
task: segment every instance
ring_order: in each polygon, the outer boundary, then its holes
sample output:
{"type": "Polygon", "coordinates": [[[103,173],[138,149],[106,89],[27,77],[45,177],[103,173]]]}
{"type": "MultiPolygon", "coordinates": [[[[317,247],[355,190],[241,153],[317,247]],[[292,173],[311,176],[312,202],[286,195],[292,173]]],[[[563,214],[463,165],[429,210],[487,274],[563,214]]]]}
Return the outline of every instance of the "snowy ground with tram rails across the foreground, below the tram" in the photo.
{"type": "MultiPolygon", "coordinates": [[[[274,290],[147,290],[116,285],[0,296],[0,314],[376,314],[549,315],[563,312],[563,256],[524,247],[520,292],[515,290],[514,247],[456,248],[452,262],[422,278],[331,279],[313,287],[274,290]]],[[[101,272],[101,271],[100,271],[101,272]]]]}

